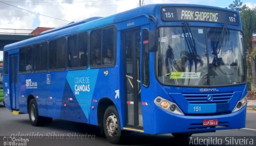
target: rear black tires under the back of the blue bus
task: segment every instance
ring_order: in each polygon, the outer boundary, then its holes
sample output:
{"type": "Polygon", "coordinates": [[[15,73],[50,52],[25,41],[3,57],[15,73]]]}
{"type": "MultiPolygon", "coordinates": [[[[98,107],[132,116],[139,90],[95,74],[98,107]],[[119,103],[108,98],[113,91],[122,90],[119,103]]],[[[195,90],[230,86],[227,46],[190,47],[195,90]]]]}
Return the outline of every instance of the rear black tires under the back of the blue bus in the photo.
{"type": "Polygon", "coordinates": [[[32,126],[44,126],[52,122],[52,118],[39,116],[35,99],[31,99],[28,106],[29,120],[32,126]]]}

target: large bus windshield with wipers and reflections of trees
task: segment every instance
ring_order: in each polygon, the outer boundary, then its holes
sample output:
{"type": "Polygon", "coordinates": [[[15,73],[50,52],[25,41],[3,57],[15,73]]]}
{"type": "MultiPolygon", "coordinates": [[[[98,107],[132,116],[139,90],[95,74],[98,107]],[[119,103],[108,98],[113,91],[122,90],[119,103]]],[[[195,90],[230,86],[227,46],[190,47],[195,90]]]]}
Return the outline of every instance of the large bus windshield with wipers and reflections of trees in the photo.
{"type": "Polygon", "coordinates": [[[242,32],[223,28],[159,28],[157,77],[162,84],[228,86],[245,81],[242,32]]]}

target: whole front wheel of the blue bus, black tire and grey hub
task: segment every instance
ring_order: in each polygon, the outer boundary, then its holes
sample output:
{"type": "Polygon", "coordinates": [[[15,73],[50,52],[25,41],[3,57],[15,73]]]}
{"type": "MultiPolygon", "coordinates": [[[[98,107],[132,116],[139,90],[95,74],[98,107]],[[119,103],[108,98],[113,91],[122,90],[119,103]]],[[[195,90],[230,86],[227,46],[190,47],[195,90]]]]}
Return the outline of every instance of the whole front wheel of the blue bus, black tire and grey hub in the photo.
{"type": "Polygon", "coordinates": [[[115,106],[109,106],[103,118],[104,133],[107,140],[112,144],[121,142],[122,131],[120,128],[120,120],[115,106]]]}

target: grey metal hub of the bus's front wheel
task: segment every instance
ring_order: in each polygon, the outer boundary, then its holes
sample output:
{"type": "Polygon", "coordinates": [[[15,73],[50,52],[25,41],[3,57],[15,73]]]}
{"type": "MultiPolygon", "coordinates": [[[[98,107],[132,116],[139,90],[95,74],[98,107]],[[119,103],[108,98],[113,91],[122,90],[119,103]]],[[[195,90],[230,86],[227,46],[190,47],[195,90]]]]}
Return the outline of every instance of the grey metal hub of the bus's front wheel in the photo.
{"type": "Polygon", "coordinates": [[[106,129],[110,136],[115,136],[117,132],[118,124],[116,120],[116,116],[111,114],[106,120],[106,129]]]}

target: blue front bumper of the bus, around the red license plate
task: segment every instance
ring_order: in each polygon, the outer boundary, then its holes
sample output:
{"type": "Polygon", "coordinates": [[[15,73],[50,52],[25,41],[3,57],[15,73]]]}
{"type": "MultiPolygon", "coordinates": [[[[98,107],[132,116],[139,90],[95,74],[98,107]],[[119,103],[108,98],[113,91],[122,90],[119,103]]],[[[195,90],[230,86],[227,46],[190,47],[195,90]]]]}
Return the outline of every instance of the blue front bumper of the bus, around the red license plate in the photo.
{"type": "MultiPolygon", "coordinates": [[[[152,134],[177,132],[212,132],[215,130],[238,129],[245,127],[246,106],[241,110],[214,116],[186,116],[166,112],[161,108],[154,111],[154,127],[152,134]],[[218,126],[203,126],[204,119],[218,119],[218,126]]],[[[151,133],[149,132],[149,133],[151,133]]]]}

